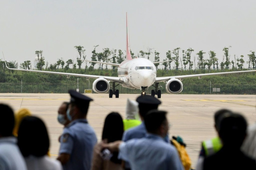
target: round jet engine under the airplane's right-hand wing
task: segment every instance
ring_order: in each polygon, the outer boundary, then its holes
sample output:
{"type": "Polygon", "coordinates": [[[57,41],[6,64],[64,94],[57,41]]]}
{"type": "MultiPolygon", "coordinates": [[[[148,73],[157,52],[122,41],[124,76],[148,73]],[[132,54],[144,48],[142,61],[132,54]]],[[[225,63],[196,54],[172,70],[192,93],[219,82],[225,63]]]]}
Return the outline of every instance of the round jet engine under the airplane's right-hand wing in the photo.
{"type": "Polygon", "coordinates": [[[183,90],[183,84],[181,80],[173,78],[168,80],[168,82],[165,85],[165,89],[166,92],[170,94],[181,93],[183,90]]]}

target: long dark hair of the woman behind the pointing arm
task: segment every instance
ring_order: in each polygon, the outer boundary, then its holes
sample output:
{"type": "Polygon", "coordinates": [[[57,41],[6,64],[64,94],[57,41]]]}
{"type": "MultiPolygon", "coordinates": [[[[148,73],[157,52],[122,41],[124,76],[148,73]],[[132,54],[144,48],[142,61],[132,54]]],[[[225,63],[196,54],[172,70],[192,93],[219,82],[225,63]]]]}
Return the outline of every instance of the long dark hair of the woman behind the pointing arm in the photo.
{"type": "MultiPolygon", "coordinates": [[[[104,122],[102,139],[107,139],[107,142],[122,140],[123,136],[123,119],[117,112],[111,112],[107,115],[104,122]]],[[[118,152],[114,152],[110,161],[121,164],[118,159],[118,152]]]]}

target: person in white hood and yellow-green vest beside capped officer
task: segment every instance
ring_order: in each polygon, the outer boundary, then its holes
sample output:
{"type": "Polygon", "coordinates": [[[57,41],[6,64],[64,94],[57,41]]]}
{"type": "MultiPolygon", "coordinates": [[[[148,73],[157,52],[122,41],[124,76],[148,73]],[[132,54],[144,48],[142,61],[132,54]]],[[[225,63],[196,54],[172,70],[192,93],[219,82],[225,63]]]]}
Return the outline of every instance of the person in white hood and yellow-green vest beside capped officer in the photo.
{"type": "Polygon", "coordinates": [[[138,126],[141,124],[141,121],[138,120],[138,102],[127,99],[126,104],[126,119],[123,120],[124,130],[128,130],[132,127],[138,126]]]}

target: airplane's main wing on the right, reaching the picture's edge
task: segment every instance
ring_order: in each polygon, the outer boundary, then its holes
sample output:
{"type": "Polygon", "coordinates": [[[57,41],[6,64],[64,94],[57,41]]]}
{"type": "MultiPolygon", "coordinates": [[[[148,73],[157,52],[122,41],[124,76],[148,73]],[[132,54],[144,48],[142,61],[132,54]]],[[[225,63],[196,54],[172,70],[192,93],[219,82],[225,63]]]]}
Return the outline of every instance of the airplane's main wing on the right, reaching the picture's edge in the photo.
{"type": "Polygon", "coordinates": [[[191,75],[182,75],[182,76],[167,76],[167,77],[157,77],[155,83],[165,82],[172,78],[183,79],[188,77],[198,77],[201,79],[202,76],[213,76],[213,75],[223,75],[223,74],[234,74],[234,73],[247,73],[247,72],[256,72],[256,70],[246,70],[246,71],[229,71],[229,72],[220,72],[220,73],[205,73],[205,74],[191,74],[191,75]]]}

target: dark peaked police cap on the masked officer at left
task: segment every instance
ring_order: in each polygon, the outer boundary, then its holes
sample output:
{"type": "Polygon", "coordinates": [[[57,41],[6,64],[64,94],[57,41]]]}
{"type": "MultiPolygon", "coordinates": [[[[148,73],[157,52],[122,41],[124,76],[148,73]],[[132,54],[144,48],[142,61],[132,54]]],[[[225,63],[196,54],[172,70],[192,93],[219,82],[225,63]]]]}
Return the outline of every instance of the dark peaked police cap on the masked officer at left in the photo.
{"type": "Polygon", "coordinates": [[[86,104],[90,101],[93,101],[90,97],[87,97],[86,95],[83,95],[75,90],[69,90],[69,94],[71,96],[70,103],[75,104],[86,104]]]}

